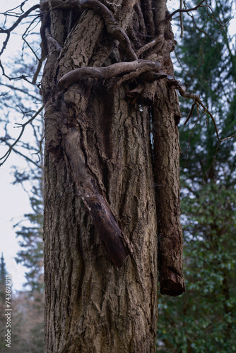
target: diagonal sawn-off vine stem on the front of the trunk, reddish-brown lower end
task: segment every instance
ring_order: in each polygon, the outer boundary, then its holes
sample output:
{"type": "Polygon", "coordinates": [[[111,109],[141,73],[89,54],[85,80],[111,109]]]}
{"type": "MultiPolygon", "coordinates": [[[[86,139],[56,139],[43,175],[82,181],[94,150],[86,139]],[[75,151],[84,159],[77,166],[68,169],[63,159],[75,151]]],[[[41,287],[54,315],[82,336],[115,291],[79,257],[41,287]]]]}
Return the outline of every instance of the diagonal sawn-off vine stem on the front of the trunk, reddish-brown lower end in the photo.
{"type": "Polygon", "coordinates": [[[110,210],[110,205],[98,191],[95,177],[85,165],[85,156],[80,148],[80,137],[77,128],[69,128],[64,140],[64,150],[69,160],[71,173],[76,183],[78,194],[88,208],[94,225],[105,244],[114,265],[120,266],[129,256],[124,246],[124,237],[117,221],[110,210]]]}

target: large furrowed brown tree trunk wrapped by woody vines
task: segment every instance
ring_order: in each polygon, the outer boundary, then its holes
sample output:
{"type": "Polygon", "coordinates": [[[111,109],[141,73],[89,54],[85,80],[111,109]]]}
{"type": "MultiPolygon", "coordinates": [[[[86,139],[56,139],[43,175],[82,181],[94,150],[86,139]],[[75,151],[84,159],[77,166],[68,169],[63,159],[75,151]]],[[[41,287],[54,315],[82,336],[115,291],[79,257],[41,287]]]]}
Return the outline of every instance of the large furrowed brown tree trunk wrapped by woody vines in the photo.
{"type": "MultiPolygon", "coordinates": [[[[105,2],[109,9],[96,0],[41,1],[45,352],[155,352],[158,225],[150,124],[151,106],[166,97],[158,98],[158,84],[149,81],[169,74],[160,66],[172,41],[164,33],[170,24],[160,25],[165,1],[159,3],[153,11],[151,1],[105,2]],[[157,41],[140,60],[135,52],[150,35],[161,36],[165,52],[157,41]]],[[[176,137],[170,144],[178,146],[176,137]]],[[[179,211],[174,217],[178,223],[179,211]]],[[[167,280],[167,294],[181,292],[176,281],[167,280]]]]}

